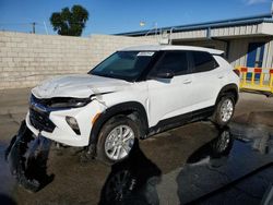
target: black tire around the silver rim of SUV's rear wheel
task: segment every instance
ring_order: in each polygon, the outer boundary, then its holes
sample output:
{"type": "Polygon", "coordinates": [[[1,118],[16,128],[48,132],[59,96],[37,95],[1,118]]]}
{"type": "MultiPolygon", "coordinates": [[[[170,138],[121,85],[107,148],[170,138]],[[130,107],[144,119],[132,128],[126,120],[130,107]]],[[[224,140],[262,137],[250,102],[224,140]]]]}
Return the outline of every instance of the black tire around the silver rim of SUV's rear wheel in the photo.
{"type": "Polygon", "coordinates": [[[229,121],[232,120],[234,116],[234,111],[235,111],[235,96],[233,94],[226,94],[222,96],[218,102],[216,104],[214,113],[212,116],[212,122],[218,125],[219,128],[223,128],[229,123],[229,121]],[[227,102],[227,100],[232,102],[233,111],[229,118],[224,119],[222,116],[222,109],[223,109],[224,104],[227,102]]]}

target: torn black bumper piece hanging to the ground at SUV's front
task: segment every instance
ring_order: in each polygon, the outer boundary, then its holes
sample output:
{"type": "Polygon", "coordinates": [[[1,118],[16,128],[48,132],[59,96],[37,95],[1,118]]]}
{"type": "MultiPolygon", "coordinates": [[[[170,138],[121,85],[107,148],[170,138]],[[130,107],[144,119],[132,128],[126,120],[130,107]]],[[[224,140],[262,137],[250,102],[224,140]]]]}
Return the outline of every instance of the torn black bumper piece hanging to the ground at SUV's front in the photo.
{"type": "Polygon", "coordinates": [[[12,176],[19,184],[32,192],[40,190],[54,179],[54,176],[47,174],[50,143],[43,136],[34,137],[23,121],[5,150],[5,160],[12,176]]]}

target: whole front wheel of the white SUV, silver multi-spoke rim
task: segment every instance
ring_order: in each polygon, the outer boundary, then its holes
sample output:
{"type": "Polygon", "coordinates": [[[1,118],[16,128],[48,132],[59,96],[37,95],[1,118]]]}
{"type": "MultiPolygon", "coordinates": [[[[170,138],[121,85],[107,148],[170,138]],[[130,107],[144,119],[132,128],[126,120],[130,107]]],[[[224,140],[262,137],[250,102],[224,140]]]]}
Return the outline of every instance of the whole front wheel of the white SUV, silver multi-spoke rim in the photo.
{"type": "Polygon", "coordinates": [[[119,116],[108,120],[102,128],[97,143],[97,157],[104,162],[114,164],[127,158],[139,136],[133,120],[119,116]]]}

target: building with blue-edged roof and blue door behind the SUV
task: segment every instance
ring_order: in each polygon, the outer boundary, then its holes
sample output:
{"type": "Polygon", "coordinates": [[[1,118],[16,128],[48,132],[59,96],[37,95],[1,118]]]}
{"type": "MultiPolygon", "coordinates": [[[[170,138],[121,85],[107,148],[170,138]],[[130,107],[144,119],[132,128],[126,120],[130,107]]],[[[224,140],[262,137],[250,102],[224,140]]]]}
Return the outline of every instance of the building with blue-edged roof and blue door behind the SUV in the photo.
{"type": "Polygon", "coordinates": [[[264,14],[118,34],[225,50],[234,67],[273,68],[273,16],[264,14]]]}

